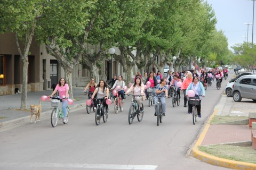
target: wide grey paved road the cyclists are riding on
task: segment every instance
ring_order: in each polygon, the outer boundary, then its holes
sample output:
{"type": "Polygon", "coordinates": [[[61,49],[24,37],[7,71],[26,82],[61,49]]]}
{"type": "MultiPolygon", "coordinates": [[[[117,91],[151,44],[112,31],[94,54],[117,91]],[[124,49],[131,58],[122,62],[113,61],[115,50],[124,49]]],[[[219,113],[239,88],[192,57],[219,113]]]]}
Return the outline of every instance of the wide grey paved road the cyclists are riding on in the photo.
{"type": "Polygon", "coordinates": [[[49,118],[1,132],[0,169],[227,169],[189,156],[224,88],[206,90],[202,118],[196,125],[183,100],[173,108],[171,99],[167,99],[166,116],[159,126],[147,100],[142,122],[134,120],[129,125],[131,97],[127,97],[124,111],[115,114],[111,105],[107,123],[102,121],[99,126],[94,114],[84,108],[71,113],[67,125],[59,122],[52,128],[49,118]]]}

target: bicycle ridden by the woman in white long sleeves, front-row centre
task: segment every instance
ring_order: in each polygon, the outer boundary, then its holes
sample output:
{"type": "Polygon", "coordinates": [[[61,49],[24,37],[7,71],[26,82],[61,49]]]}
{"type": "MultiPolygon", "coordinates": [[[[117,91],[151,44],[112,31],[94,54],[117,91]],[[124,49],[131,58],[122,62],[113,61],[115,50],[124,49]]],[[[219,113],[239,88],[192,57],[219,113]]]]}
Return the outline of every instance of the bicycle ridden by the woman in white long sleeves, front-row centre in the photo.
{"type": "MultiPolygon", "coordinates": [[[[130,95],[128,95],[128,96],[130,96],[130,95]]],[[[143,114],[144,114],[143,111],[142,112],[140,111],[139,104],[137,103],[137,101],[135,99],[135,96],[141,97],[141,95],[132,95],[132,96],[133,96],[133,99],[131,101],[129,114],[128,114],[129,124],[132,124],[133,119],[134,119],[135,116],[137,116],[138,121],[141,122],[142,118],[143,118],[143,114]]],[[[142,104],[142,108],[144,109],[143,103],[141,103],[141,104],[142,104]]]]}

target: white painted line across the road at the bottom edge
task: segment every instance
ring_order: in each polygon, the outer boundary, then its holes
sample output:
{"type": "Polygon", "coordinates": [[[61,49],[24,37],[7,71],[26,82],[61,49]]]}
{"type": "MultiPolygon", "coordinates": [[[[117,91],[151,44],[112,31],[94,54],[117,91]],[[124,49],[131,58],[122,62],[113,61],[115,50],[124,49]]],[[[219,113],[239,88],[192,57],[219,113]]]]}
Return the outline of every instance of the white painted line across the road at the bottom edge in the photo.
{"type": "Polygon", "coordinates": [[[60,164],[60,163],[0,163],[0,167],[56,167],[56,168],[93,168],[93,169],[138,169],[154,170],[157,165],[114,165],[114,164],[60,164]]]}

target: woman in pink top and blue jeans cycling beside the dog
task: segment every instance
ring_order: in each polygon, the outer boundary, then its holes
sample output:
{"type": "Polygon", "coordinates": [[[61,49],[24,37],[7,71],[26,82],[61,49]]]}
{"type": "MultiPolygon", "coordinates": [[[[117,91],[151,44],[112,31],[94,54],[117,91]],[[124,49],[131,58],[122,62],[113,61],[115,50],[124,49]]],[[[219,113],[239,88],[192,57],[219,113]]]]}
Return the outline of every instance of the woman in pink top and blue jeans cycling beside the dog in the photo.
{"type": "MultiPolygon", "coordinates": [[[[61,99],[62,96],[65,96],[66,98],[69,98],[68,95],[68,83],[64,78],[60,78],[59,83],[57,84],[55,90],[52,92],[51,96],[48,96],[49,98],[52,97],[57,91],[59,92],[59,96],[57,98],[61,99]]],[[[62,112],[63,112],[63,122],[67,122],[67,106],[68,106],[68,100],[62,100],[62,112]]]]}

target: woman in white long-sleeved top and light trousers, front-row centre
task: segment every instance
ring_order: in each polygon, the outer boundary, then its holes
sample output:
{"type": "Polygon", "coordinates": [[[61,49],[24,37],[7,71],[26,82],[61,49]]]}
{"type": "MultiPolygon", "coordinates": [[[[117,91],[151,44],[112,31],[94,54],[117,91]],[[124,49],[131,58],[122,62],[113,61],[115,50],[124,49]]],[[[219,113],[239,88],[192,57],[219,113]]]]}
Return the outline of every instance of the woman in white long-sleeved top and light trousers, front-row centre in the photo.
{"type": "Polygon", "coordinates": [[[132,86],[130,87],[130,89],[128,89],[125,92],[125,95],[129,94],[129,92],[132,92],[133,95],[138,95],[135,100],[137,101],[138,105],[140,106],[140,112],[143,112],[141,101],[145,100],[144,90],[145,90],[144,84],[141,82],[140,77],[137,77],[135,79],[134,83],[132,84],[132,86]]]}

